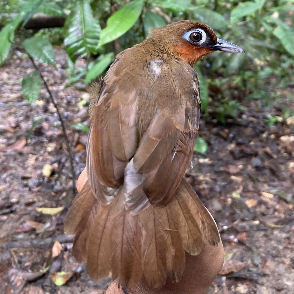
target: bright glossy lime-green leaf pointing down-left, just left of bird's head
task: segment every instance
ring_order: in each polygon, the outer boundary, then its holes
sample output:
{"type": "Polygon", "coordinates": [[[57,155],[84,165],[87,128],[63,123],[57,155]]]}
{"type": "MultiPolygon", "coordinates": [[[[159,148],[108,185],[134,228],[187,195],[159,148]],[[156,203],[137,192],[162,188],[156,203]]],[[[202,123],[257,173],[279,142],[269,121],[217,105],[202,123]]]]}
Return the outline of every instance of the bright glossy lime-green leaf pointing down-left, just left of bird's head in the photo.
{"type": "Polygon", "coordinates": [[[143,0],[134,0],[122,6],[108,20],[106,28],[101,31],[100,45],[109,43],[124,33],[135,24],[143,9],[143,0]]]}

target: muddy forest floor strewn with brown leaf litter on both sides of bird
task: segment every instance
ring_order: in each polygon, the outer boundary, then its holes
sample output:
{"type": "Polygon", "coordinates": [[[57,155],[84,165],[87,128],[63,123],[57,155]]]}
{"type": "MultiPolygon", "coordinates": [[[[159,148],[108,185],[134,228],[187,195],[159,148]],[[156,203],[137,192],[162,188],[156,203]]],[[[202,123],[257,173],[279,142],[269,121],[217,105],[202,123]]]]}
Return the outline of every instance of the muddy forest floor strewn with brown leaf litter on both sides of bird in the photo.
{"type": "MultiPolygon", "coordinates": [[[[71,125],[88,123],[87,106],[77,105],[88,94],[79,83],[65,87],[66,54],[55,51],[56,69],[39,67],[64,118],[77,178],[85,166],[87,134],[71,125]]],[[[32,108],[22,97],[21,78],[34,68],[16,53],[0,69],[0,293],[102,293],[110,279],[91,281],[86,266],[71,255],[72,236],[64,235],[74,195],[56,109],[44,86],[32,108]],[[26,142],[36,117],[44,120],[26,142]],[[51,209],[50,215],[44,207],[64,209],[51,209]]],[[[290,90],[283,107],[294,113],[290,90]]],[[[244,110],[225,125],[201,120],[199,135],[208,151],[194,154],[186,174],[215,218],[225,248],[225,264],[209,293],[293,294],[293,120],[270,127],[268,114],[283,116],[278,103],[242,104],[244,110]]]]}

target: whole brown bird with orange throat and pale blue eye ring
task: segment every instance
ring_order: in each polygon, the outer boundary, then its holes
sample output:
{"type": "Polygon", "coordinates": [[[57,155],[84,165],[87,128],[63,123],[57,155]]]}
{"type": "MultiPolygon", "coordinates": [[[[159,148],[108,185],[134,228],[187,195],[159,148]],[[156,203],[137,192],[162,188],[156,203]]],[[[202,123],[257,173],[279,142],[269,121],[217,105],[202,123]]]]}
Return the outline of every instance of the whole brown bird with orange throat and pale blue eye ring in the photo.
{"type": "Polygon", "coordinates": [[[111,274],[126,288],[178,283],[185,254],[217,246],[217,225],[185,179],[201,101],[193,65],[215,52],[244,53],[206,24],[177,21],[116,56],[94,87],[88,180],[64,230],[93,280],[111,274]],[[186,253],[185,253],[186,252],[186,253]]]}

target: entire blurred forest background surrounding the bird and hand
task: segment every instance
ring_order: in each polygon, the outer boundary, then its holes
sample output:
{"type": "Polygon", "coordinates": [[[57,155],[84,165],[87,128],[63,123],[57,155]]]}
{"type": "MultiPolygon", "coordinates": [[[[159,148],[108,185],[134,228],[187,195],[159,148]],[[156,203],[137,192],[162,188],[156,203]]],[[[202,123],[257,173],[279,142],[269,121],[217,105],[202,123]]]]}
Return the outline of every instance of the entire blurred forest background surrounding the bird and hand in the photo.
{"type": "Polygon", "coordinates": [[[151,28],[182,19],[245,50],[195,66],[203,116],[186,176],[226,259],[211,293],[294,293],[293,0],[10,0],[0,17],[0,293],[106,287],[63,235],[85,166],[88,85],[151,28]]]}

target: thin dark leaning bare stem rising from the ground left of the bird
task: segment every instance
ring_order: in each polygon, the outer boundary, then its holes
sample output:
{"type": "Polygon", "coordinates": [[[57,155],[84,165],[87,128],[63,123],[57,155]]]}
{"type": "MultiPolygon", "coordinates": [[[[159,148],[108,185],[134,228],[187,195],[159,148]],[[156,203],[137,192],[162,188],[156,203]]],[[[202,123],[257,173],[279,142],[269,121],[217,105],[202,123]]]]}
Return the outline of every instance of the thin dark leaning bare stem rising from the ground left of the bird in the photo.
{"type": "Polygon", "coordinates": [[[63,122],[61,113],[59,112],[58,106],[57,106],[56,102],[54,101],[52,93],[51,93],[51,91],[50,91],[50,89],[48,87],[48,84],[46,83],[46,80],[45,80],[44,76],[42,75],[39,67],[35,63],[33,57],[30,54],[28,54],[28,55],[29,55],[29,58],[31,59],[32,64],[36,68],[36,70],[39,71],[41,79],[42,79],[42,81],[43,81],[43,83],[44,83],[44,85],[46,87],[46,90],[47,90],[47,92],[49,94],[49,97],[51,99],[51,102],[53,103],[54,107],[56,108],[56,112],[58,114],[59,121],[61,123],[62,133],[63,133],[64,139],[65,139],[66,151],[68,153],[69,162],[70,162],[70,165],[71,165],[71,176],[72,176],[72,181],[73,181],[72,189],[73,189],[73,192],[76,193],[76,174],[75,174],[75,171],[74,171],[74,160],[73,160],[73,158],[71,156],[71,148],[70,148],[70,145],[69,145],[69,139],[66,136],[66,130],[65,130],[65,126],[64,126],[64,122],[63,122]]]}

